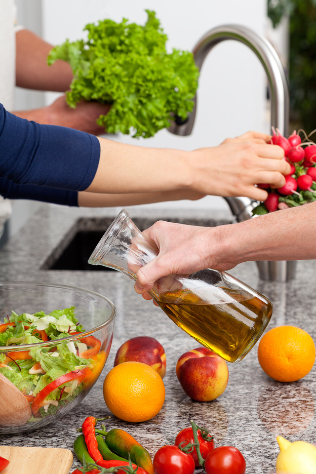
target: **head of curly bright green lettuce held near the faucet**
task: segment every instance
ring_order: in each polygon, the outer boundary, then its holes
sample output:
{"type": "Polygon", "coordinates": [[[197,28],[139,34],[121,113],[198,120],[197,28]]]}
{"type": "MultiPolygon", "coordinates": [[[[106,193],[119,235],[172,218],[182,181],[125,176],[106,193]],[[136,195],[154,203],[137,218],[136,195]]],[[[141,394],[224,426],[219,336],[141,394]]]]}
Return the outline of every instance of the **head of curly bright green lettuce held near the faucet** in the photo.
{"type": "Polygon", "coordinates": [[[152,137],[169,127],[174,116],[185,120],[193,108],[199,70],[192,53],[167,53],[167,35],[155,12],[146,10],[144,26],[112,20],[88,24],[88,39],[56,46],[48,64],[67,61],[73,81],[67,103],[81,100],[111,103],[98,124],[108,133],[152,137]]]}

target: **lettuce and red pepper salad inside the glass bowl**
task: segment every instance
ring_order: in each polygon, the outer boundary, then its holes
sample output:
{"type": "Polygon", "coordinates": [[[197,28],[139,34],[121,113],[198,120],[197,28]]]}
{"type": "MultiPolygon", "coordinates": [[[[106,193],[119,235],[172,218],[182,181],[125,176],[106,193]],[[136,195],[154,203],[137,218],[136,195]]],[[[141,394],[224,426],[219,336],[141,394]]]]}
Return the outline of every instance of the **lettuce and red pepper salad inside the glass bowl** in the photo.
{"type": "Polygon", "coordinates": [[[90,335],[73,341],[59,339],[84,331],[78,323],[74,306],[50,314],[17,314],[0,324],[0,346],[19,346],[48,342],[30,350],[0,352],[0,373],[26,397],[32,418],[53,415],[89,388],[99,376],[106,355],[101,342],[90,335]],[[50,341],[55,341],[52,345],[50,341]]]}

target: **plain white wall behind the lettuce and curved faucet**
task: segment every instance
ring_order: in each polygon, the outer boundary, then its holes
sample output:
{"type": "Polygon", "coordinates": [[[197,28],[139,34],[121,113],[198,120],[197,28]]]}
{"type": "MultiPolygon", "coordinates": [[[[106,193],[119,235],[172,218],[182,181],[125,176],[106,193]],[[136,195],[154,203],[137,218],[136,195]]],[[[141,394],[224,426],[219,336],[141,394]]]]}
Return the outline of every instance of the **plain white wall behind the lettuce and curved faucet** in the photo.
{"type": "MultiPolygon", "coordinates": [[[[104,18],[144,23],[145,9],[154,10],[168,34],[168,48],[192,50],[209,29],[226,23],[246,25],[264,34],[266,0],[42,0],[43,35],[52,44],[82,38],[87,23],[104,18]]],[[[128,136],[115,140],[143,146],[194,149],[219,144],[248,130],[269,131],[266,115],[266,79],[263,68],[246,46],[226,41],[205,61],[199,83],[198,113],[192,134],[179,137],[163,130],[151,139],[128,136]]],[[[46,103],[56,98],[46,94],[46,103]]],[[[208,196],[198,202],[166,203],[176,207],[225,208],[221,198],[208,196]]],[[[158,205],[147,205],[162,207],[158,205]]]]}

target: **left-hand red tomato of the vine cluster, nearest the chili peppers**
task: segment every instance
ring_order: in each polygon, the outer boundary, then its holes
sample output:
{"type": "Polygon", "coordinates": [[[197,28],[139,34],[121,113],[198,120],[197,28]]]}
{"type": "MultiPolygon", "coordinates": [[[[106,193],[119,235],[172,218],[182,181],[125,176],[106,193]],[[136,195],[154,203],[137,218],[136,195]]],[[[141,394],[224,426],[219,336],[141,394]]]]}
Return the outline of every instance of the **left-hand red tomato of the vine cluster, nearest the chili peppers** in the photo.
{"type": "Polygon", "coordinates": [[[193,474],[195,465],[192,456],[178,446],[167,445],[154,455],[153,468],[155,474],[193,474]]]}

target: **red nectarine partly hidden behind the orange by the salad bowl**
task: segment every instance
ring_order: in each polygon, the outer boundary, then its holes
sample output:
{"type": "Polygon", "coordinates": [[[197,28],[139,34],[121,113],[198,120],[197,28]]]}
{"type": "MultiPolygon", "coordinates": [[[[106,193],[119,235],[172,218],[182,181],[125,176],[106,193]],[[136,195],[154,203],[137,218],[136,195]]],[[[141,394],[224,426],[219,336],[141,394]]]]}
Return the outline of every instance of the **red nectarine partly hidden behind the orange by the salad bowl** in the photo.
{"type": "Polygon", "coordinates": [[[132,337],[121,345],[115,355],[114,367],[122,362],[142,362],[152,367],[161,378],[166,374],[165,349],[153,337],[132,337]]]}

